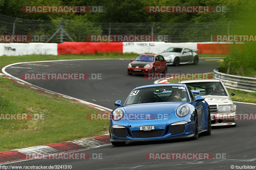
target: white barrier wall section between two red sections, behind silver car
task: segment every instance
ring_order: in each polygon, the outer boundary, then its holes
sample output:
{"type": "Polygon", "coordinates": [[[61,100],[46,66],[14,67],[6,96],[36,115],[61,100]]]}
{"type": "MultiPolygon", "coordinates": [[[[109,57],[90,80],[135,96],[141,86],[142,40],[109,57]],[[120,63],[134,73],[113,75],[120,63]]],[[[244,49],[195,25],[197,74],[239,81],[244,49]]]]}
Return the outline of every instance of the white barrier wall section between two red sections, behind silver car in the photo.
{"type": "Polygon", "coordinates": [[[187,47],[190,49],[197,49],[197,42],[184,43],[165,43],[165,42],[123,42],[123,53],[153,53],[158,54],[164,52],[170,47],[187,47]]]}

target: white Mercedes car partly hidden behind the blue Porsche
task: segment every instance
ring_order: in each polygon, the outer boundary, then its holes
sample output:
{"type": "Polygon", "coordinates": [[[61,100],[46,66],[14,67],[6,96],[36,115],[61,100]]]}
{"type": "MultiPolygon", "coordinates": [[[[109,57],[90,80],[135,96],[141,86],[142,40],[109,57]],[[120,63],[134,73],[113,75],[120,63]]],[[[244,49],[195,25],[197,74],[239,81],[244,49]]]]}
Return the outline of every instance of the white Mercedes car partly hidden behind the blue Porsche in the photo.
{"type": "MultiPolygon", "coordinates": [[[[221,80],[184,80],[179,83],[186,84],[193,94],[201,95],[210,106],[212,126],[236,126],[236,105],[230,98],[228,91],[221,80]],[[227,119],[223,115],[228,115],[227,119]],[[233,119],[231,119],[233,117],[233,119]]],[[[235,93],[231,93],[231,96],[235,93]]]]}

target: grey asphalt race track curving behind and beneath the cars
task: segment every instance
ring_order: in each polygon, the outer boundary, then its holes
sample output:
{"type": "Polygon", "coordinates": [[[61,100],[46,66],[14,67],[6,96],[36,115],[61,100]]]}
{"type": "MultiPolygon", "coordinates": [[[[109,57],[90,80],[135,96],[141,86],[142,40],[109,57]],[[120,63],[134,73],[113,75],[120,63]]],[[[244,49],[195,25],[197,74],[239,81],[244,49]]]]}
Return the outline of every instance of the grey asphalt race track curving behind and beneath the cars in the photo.
{"type": "MultiPolygon", "coordinates": [[[[77,60],[12,65],[5,69],[20,78],[22,73],[99,73],[101,80],[29,80],[45,89],[114,109],[114,102],[124,103],[131,90],[140,85],[153,84],[141,75],[129,76],[126,68],[130,60],[77,60]]],[[[200,59],[198,65],[168,66],[168,73],[205,73],[218,68],[216,60],[200,59]]],[[[22,96],[20,96],[22,97],[22,96]]],[[[236,103],[237,113],[256,113],[256,105],[236,103]]],[[[211,136],[197,140],[167,140],[127,143],[125,147],[111,144],[86,149],[79,153],[102,154],[102,159],[88,160],[29,160],[12,166],[71,165],[72,169],[231,169],[230,166],[256,166],[256,122],[238,121],[236,127],[214,127],[211,136]],[[147,153],[212,153],[211,160],[148,160],[147,153]],[[216,155],[223,155],[218,159],[216,155]]],[[[236,167],[234,168],[236,169],[236,167]]]]}

